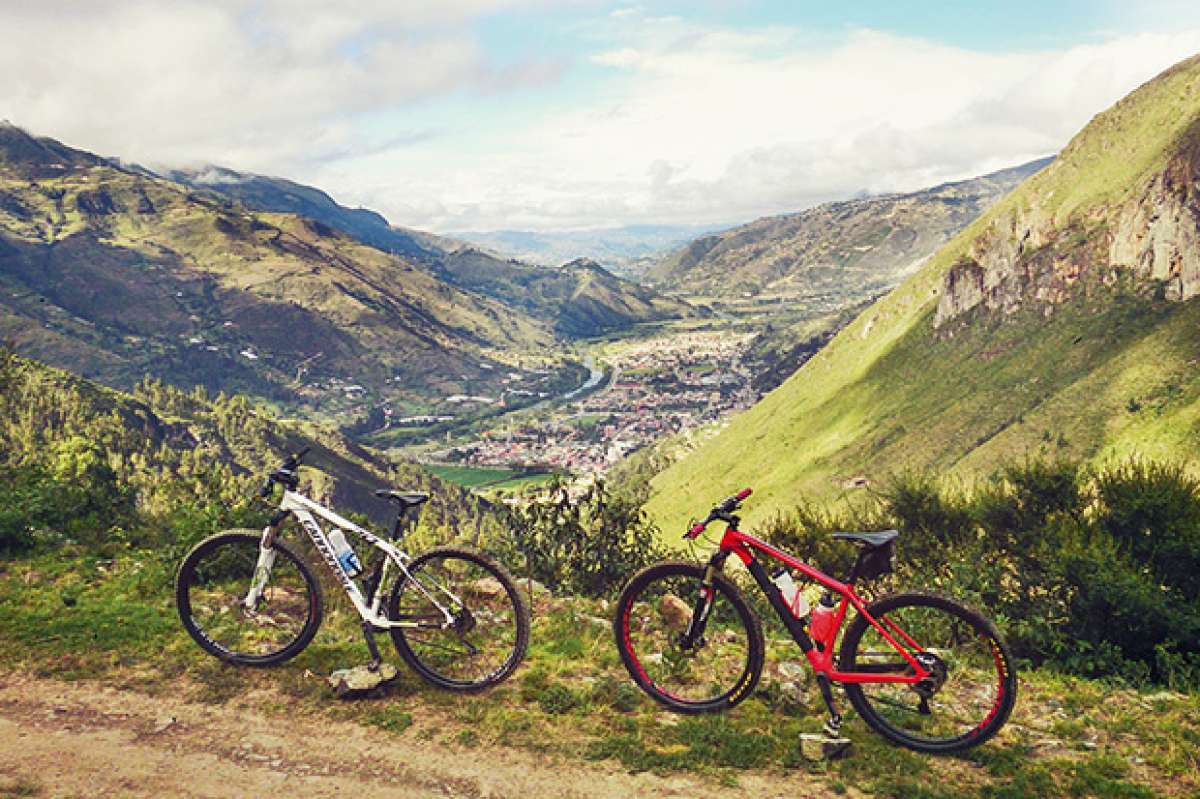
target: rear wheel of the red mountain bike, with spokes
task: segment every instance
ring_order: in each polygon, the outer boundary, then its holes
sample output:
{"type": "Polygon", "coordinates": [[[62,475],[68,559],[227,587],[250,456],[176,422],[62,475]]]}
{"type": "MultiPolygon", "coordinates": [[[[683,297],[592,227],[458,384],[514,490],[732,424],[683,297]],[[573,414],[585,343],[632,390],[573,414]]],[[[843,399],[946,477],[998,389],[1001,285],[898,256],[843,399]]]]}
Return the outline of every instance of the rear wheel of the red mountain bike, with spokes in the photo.
{"type": "MultiPolygon", "coordinates": [[[[978,746],[1000,731],[1016,702],[1016,672],[990,621],[937,594],[895,594],[866,609],[930,677],[916,685],[846,685],[863,721],[902,746],[934,753],[978,746]]],[[[913,673],[863,615],[846,630],[839,665],[844,672],[913,673]]]]}

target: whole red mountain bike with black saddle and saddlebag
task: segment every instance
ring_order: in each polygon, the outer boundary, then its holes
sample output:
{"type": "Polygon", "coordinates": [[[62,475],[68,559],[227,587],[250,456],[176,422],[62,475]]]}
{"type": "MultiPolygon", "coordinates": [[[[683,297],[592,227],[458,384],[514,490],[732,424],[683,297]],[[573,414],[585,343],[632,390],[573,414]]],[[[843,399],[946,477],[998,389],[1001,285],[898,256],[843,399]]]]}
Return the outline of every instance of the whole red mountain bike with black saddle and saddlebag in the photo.
{"type": "Polygon", "coordinates": [[[829,709],[827,733],[836,735],[841,726],[834,683],[871,728],[917,751],[958,752],[1000,731],[1016,701],[1016,673],[988,619],[937,594],[892,594],[866,605],[854,593],[856,579],[892,571],[896,530],[835,533],[860,546],[841,582],[739,531],[734,512],[749,495],[746,488],[730,497],[684,535],[692,540],[714,521],[727,524],[707,565],[660,563],[622,591],[613,621],[617,648],[643,691],[678,713],[718,713],[754,690],[763,666],[762,623],[722,572],[736,554],[816,673],[829,709]],[[787,573],[773,581],[760,554],[781,561],[787,573]],[[791,572],[824,587],[811,613],[790,584],[791,572]],[[856,615],[834,656],[851,606],[856,615]]]}

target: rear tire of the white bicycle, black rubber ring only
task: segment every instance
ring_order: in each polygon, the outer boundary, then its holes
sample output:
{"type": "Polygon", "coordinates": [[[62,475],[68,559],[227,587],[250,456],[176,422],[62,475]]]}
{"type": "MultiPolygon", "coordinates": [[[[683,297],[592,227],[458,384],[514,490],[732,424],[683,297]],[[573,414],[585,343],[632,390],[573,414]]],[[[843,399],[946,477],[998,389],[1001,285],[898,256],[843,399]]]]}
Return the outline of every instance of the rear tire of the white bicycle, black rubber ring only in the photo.
{"type": "MultiPolygon", "coordinates": [[[[442,673],[433,663],[428,662],[428,659],[421,657],[421,655],[413,649],[409,641],[409,638],[413,637],[409,632],[410,629],[392,627],[390,631],[392,645],[396,648],[396,651],[404,660],[404,662],[413,668],[413,671],[420,674],[428,683],[450,691],[473,693],[488,689],[493,685],[498,685],[499,683],[506,680],[512,672],[516,671],[517,666],[521,665],[521,661],[524,660],[526,650],[529,647],[529,607],[526,605],[524,597],[521,595],[521,590],[517,588],[516,581],[512,579],[512,576],[508,572],[508,570],[496,560],[492,560],[487,555],[473,549],[464,549],[460,547],[438,547],[430,549],[408,564],[408,572],[414,579],[419,579],[421,571],[438,559],[461,560],[474,564],[481,567],[485,572],[487,572],[487,576],[492,577],[500,584],[504,589],[504,596],[511,606],[512,618],[516,625],[516,635],[510,651],[497,668],[490,671],[481,678],[464,680],[442,673]]],[[[388,615],[390,619],[396,620],[401,617],[400,602],[409,584],[409,578],[402,575],[392,585],[391,596],[388,602],[388,615]]],[[[458,593],[461,597],[463,591],[456,593],[458,593]]],[[[469,612],[469,608],[466,609],[469,612]]]]}

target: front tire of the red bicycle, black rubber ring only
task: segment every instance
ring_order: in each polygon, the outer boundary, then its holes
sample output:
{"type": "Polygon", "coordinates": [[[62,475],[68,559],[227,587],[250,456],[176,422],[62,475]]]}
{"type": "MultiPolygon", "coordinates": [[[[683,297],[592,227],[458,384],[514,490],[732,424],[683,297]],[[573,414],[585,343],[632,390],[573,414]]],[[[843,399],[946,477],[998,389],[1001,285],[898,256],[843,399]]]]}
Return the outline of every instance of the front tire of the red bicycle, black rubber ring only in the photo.
{"type": "MultiPolygon", "coordinates": [[[[634,651],[631,617],[634,603],[642,593],[656,581],[665,581],[670,577],[695,579],[698,589],[698,583],[703,581],[706,571],[707,566],[685,560],[666,560],[648,566],[634,575],[625,584],[620,597],[617,600],[616,615],[613,617],[613,633],[617,638],[617,650],[620,653],[620,660],[624,662],[629,675],[654,701],[676,713],[701,714],[727,710],[750,696],[754,687],[758,684],[760,677],[762,677],[764,657],[762,623],[754,611],[750,609],[750,605],[738,587],[720,572],[714,575],[716,591],[724,595],[732,606],[746,637],[745,667],[727,690],[719,696],[702,701],[684,699],[660,687],[647,672],[637,653],[634,651]]],[[[709,618],[712,619],[712,617],[709,618]]]]}

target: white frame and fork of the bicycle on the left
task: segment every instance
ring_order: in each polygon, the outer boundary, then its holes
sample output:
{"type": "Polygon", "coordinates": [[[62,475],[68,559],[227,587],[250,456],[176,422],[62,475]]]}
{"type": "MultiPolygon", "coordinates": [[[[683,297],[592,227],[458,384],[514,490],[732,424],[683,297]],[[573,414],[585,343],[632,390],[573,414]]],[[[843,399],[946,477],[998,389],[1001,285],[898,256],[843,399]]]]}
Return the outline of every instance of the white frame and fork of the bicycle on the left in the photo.
{"type": "MultiPolygon", "coordinates": [[[[380,630],[422,626],[419,621],[397,621],[389,619],[383,612],[384,587],[388,585],[389,571],[392,566],[395,566],[400,570],[402,578],[408,579],[421,594],[425,595],[427,600],[433,602],[433,605],[442,611],[443,621],[440,627],[446,629],[454,626],[454,614],[445,607],[445,605],[434,599],[433,595],[425,589],[421,581],[414,579],[412,573],[408,571],[407,564],[412,561],[412,558],[407,552],[295,491],[283,491],[283,500],[280,503],[280,510],[296,517],[296,521],[300,522],[305,533],[307,533],[308,537],[312,539],[312,545],[317,547],[317,552],[319,552],[320,557],[325,560],[325,565],[332,570],[334,575],[342,584],[342,589],[346,591],[346,595],[350,597],[354,609],[359,612],[359,615],[362,617],[364,621],[380,630]],[[382,549],[386,555],[383,563],[383,571],[379,575],[379,582],[376,584],[374,596],[372,597],[370,606],[367,605],[367,599],[362,595],[362,591],[359,590],[354,579],[349,576],[349,573],[347,573],[346,569],[334,554],[334,547],[330,545],[329,537],[325,536],[325,531],[317,523],[318,516],[344,533],[353,533],[374,548],[382,549]]],[[[277,527],[274,525],[269,525],[263,529],[263,540],[258,546],[258,563],[254,566],[254,581],[251,584],[246,597],[242,600],[242,606],[247,612],[253,612],[254,607],[258,605],[259,597],[262,597],[263,591],[266,589],[268,581],[270,579],[271,567],[275,565],[274,543],[276,531],[277,527]]],[[[452,603],[456,603],[460,607],[462,606],[462,600],[458,596],[446,590],[443,585],[437,585],[437,588],[445,594],[452,603]]]]}

